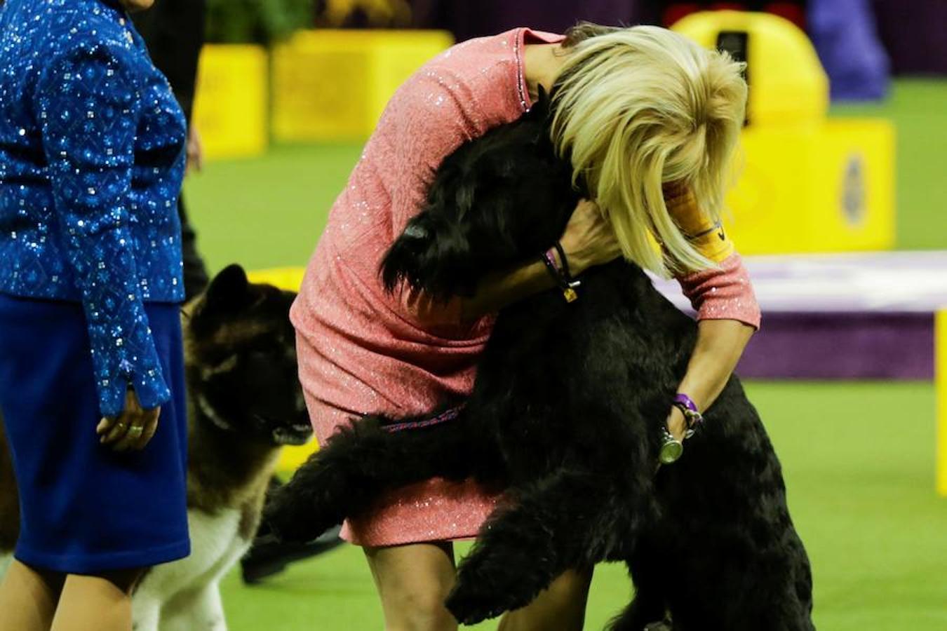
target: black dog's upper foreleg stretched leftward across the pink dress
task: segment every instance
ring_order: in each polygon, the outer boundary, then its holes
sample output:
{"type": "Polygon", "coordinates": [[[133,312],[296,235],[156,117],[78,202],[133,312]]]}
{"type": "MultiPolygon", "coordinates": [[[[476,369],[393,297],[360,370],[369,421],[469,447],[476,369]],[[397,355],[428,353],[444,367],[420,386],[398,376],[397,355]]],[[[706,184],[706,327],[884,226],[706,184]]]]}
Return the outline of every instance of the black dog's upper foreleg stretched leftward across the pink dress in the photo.
{"type": "Polygon", "coordinates": [[[341,429],[267,502],[264,518],[277,536],[311,540],[383,491],[412,482],[503,475],[491,436],[469,431],[462,419],[395,432],[379,421],[366,417],[341,429]]]}

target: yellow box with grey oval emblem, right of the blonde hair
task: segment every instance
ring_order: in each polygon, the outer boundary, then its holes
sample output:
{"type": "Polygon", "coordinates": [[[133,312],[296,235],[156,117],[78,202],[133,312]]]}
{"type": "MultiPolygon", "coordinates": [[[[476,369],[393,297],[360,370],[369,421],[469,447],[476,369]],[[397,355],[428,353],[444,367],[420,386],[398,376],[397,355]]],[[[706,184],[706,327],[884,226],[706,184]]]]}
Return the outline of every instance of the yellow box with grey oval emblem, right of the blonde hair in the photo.
{"type": "Polygon", "coordinates": [[[742,254],[894,247],[894,153],[882,119],[746,128],[730,237],[742,254]]]}

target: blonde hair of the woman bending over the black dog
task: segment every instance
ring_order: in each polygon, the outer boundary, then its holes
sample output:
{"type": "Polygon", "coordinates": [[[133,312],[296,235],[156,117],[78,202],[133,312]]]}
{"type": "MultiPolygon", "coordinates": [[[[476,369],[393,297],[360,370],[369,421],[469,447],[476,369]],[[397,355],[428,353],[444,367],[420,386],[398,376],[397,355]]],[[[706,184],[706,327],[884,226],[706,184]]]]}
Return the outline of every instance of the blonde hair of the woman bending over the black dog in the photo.
{"type": "Polygon", "coordinates": [[[657,26],[582,24],[563,51],[553,142],[624,256],[662,275],[714,267],[670,217],[662,186],[687,186],[708,218],[720,219],[743,124],[744,65],[657,26]]]}

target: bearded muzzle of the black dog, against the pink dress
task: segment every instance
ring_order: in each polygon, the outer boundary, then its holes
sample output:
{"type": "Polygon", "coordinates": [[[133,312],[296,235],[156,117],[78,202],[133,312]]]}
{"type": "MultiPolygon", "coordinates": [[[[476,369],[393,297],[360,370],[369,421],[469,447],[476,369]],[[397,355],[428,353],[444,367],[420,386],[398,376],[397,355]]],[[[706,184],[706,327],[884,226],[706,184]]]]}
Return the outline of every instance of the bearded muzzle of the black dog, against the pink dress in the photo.
{"type": "Polygon", "coordinates": [[[384,254],[382,282],[387,291],[401,282],[438,298],[469,293],[465,279],[472,263],[470,241],[461,222],[427,209],[408,221],[384,254]]]}

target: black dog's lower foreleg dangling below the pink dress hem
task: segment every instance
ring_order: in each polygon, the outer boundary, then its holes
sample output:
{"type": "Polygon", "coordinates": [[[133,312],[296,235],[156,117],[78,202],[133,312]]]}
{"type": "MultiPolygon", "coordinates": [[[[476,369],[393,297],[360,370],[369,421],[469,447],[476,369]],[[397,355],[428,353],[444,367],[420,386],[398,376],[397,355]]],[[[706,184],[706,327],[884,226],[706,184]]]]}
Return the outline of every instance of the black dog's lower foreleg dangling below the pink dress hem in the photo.
{"type": "Polygon", "coordinates": [[[594,565],[634,538],[626,497],[588,472],[558,470],[511,489],[509,501],[481,528],[447,599],[464,624],[527,605],[564,570],[594,565]]]}

